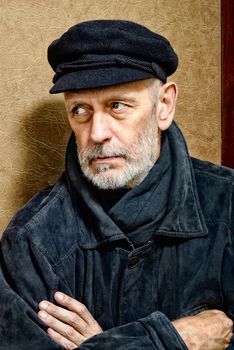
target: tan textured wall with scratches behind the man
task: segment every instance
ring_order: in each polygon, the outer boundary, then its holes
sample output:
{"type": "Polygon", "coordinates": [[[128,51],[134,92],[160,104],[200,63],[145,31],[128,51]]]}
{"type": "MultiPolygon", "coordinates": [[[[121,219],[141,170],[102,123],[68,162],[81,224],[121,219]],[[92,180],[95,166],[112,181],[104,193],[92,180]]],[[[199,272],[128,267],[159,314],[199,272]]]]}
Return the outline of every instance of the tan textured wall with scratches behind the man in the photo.
{"type": "Polygon", "coordinates": [[[180,56],[177,121],[193,155],[220,161],[219,0],[0,0],[0,232],[63,168],[69,134],[50,96],[49,43],[78,21],[133,20],[167,36],[180,56]]]}

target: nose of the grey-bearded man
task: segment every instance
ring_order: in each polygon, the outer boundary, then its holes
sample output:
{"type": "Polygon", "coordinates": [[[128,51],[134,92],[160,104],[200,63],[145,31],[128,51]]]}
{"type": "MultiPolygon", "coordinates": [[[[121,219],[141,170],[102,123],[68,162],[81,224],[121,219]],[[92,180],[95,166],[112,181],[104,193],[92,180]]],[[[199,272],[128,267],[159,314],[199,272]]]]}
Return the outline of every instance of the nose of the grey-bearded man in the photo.
{"type": "Polygon", "coordinates": [[[107,142],[112,138],[111,117],[104,113],[96,113],[92,117],[90,140],[93,143],[107,142]]]}

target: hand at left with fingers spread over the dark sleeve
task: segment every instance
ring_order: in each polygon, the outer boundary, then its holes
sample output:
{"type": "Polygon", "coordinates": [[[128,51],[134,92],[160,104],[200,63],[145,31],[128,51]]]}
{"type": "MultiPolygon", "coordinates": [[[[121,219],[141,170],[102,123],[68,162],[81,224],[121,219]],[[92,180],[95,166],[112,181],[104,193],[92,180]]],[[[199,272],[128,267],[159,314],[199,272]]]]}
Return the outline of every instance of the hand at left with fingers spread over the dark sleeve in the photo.
{"type": "Polygon", "coordinates": [[[75,349],[86,339],[102,333],[84,304],[60,292],[54,298],[62,307],[43,300],[38,316],[49,327],[49,336],[64,349],[75,349]]]}

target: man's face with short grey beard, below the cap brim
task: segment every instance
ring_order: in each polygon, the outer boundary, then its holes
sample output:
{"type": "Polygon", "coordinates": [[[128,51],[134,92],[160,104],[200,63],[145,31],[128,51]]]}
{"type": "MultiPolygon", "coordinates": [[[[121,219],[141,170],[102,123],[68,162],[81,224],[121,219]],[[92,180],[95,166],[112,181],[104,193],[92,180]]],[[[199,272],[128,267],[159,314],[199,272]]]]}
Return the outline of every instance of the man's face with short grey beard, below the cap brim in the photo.
{"type": "Polygon", "coordinates": [[[133,187],[158,158],[152,89],[146,81],[139,81],[65,93],[81,169],[95,186],[133,187]]]}

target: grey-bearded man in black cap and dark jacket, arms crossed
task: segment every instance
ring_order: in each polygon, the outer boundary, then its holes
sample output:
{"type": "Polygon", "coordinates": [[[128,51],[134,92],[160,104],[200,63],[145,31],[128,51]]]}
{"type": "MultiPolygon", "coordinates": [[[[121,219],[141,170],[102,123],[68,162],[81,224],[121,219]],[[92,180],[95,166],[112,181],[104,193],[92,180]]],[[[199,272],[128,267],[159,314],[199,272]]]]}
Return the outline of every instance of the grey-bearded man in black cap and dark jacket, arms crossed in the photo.
{"type": "Polygon", "coordinates": [[[233,348],[233,171],[188,155],[169,42],[91,21],[48,58],[74,133],[3,236],[0,349],[233,348]]]}

